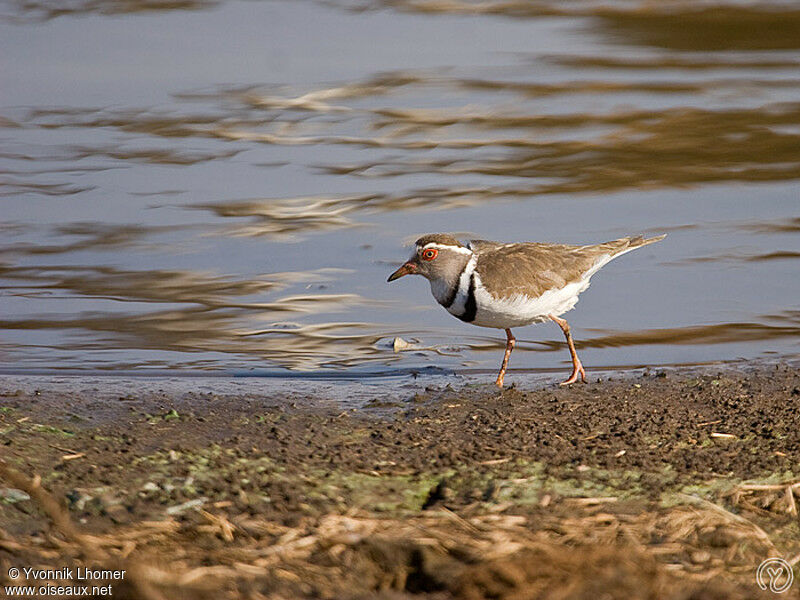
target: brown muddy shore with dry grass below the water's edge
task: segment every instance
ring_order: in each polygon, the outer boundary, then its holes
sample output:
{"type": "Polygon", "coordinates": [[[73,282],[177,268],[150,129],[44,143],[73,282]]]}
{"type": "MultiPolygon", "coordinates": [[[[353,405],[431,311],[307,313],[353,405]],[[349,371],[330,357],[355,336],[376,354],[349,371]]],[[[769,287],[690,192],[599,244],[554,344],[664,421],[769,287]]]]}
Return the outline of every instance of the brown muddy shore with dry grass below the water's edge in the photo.
{"type": "Polygon", "coordinates": [[[0,585],[36,566],[126,569],[115,598],[775,597],[755,572],[800,562],[800,369],[528,386],[418,379],[353,407],[4,376],[0,585]]]}

